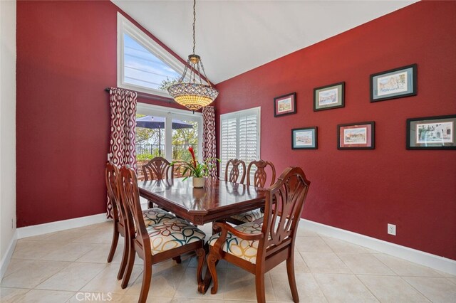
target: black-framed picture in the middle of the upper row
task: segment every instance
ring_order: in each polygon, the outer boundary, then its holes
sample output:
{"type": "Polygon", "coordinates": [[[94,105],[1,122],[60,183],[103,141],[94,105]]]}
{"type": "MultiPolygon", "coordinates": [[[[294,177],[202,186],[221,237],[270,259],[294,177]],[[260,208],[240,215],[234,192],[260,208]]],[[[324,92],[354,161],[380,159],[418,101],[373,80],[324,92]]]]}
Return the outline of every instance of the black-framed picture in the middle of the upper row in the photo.
{"type": "Polygon", "coordinates": [[[345,82],[314,88],[314,112],[344,107],[345,82]]]}

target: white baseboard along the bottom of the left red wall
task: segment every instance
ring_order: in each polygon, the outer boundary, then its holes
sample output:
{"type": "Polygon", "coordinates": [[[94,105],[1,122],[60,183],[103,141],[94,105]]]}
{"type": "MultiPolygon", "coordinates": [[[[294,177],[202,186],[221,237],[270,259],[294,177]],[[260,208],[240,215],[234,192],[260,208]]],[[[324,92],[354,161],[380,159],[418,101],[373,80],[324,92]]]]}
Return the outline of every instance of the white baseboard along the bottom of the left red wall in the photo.
{"type": "Polygon", "coordinates": [[[17,229],[17,238],[33,237],[34,235],[43,235],[45,233],[53,233],[56,231],[67,230],[71,228],[83,227],[86,225],[103,223],[108,221],[106,213],[99,213],[98,215],[74,218],[69,220],[61,220],[56,222],[26,226],[17,229]]]}

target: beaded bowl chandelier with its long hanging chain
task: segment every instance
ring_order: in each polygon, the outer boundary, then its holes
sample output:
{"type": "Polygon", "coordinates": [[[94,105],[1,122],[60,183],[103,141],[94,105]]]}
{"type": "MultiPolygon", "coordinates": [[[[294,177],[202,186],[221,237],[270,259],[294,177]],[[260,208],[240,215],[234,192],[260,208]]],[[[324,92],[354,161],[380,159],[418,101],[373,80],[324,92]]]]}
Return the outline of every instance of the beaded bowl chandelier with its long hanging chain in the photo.
{"type": "Polygon", "coordinates": [[[184,73],[176,84],[168,87],[168,92],[171,97],[179,103],[195,112],[201,107],[209,105],[215,100],[219,92],[212,87],[209,79],[207,79],[202,60],[199,55],[195,55],[195,21],[196,21],[196,0],[193,0],[193,53],[188,56],[187,64],[185,65],[184,73]],[[186,83],[185,75],[187,70],[190,70],[190,80],[186,83]],[[201,75],[204,75],[208,85],[203,84],[201,75]]]}

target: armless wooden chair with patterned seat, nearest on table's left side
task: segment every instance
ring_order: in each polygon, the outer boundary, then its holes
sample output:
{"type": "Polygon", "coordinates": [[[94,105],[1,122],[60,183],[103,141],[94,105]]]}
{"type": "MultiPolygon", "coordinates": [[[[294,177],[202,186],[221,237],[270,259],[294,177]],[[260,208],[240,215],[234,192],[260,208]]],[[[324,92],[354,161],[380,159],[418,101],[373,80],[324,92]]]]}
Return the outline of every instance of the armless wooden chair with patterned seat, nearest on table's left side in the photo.
{"type": "Polygon", "coordinates": [[[135,171],[123,166],[120,169],[120,194],[125,204],[127,238],[129,240],[128,262],[122,288],[128,285],[135,256],[143,260],[142,285],[138,302],[145,302],[152,279],[152,265],[163,260],[196,251],[198,256],[197,283],[202,282],[204,262],[204,238],[202,230],[187,221],[174,218],[146,228],[141,217],[138,181],[135,171]]]}

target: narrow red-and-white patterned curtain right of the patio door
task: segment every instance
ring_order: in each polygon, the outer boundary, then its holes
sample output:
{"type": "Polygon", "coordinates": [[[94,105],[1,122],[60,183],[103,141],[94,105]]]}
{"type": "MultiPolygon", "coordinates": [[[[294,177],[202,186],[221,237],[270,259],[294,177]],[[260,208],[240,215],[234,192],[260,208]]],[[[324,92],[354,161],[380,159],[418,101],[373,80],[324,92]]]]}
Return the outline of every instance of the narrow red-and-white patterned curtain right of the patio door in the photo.
{"type": "Polygon", "coordinates": [[[217,178],[217,149],[215,139],[215,109],[213,106],[202,108],[202,159],[203,161],[212,158],[212,170],[209,172],[211,178],[217,178]]]}

